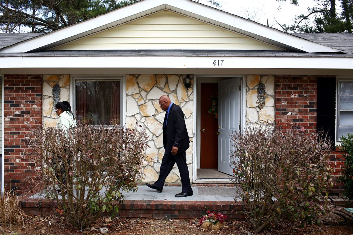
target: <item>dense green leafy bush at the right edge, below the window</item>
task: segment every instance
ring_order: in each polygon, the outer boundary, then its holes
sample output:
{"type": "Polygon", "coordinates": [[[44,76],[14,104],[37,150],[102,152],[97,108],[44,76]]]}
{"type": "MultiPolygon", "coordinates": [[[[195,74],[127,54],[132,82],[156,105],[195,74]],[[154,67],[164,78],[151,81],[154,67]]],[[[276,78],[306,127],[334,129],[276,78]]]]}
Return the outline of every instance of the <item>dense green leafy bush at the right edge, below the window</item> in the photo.
{"type": "Polygon", "coordinates": [[[349,200],[353,200],[353,134],[341,137],[340,148],[343,151],[342,157],[345,158],[342,175],[339,182],[345,184],[345,195],[349,200]]]}

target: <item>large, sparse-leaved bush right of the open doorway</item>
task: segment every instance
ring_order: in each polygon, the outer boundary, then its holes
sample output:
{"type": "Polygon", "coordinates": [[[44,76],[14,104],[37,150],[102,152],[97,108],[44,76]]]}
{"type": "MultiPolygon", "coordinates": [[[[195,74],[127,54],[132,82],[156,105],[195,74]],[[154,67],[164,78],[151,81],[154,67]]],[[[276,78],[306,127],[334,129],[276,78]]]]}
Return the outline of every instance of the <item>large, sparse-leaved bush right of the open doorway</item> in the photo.
{"type": "MultiPolygon", "coordinates": [[[[281,220],[321,224],[333,186],[325,138],[300,129],[247,127],[232,136],[234,183],[255,231],[281,220]]],[[[237,199],[237,198],[236,198],[237,199]]]]}

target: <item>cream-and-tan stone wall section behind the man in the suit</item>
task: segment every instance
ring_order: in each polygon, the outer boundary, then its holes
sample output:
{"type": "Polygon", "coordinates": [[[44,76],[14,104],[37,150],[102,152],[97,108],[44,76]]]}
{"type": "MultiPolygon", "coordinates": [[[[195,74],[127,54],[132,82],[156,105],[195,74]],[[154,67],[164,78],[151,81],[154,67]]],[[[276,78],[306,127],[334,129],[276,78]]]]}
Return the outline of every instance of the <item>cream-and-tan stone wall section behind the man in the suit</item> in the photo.
{"type": "MultiPolygon", "coordinates": [[[[185,76],[185,75],[184,75],[185,76]]],[[[191,76],[192,77],[192,76],[191,76]]],[[[193,90],[186,90],[183,75],[142,74],[126,76],[126,126],[134,127],[136,123],[146,128],[149,136],[146,159],[143,162],[145,182],[158,179],[162,157],[164,155],[162,124],[165,112],[158,99],[168,95],[170,100],[181,107],[185,116],[186,128],[190,137],[190,148],[186,151],[190,180],[192,180],[192,128],[193,128],[193,90]]],[[[167,183],[180,183],[177,165],[166,179],[167,183]]]]}

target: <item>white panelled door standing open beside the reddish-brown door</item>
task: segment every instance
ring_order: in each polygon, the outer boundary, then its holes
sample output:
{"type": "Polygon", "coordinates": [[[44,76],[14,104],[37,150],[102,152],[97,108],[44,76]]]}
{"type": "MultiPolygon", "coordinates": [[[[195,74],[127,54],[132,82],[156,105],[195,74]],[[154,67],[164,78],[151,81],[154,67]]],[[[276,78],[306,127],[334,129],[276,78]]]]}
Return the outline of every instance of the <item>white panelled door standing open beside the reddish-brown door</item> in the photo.
{"type": "Polygon", "coordinates": [[[230,134],[240,125],[240,78],[220,81],[218,84],[218,171],[232,175],[230,134]]]}

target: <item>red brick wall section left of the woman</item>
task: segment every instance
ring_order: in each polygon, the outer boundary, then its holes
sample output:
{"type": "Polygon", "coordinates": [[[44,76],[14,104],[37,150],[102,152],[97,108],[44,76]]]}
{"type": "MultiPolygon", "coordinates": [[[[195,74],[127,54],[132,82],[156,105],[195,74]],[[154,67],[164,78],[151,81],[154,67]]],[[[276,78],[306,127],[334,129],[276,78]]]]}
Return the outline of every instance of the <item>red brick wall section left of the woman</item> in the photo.
{"type": "Polygon", "coordinates": [[[42,76],[4,76],[4,178],[6,190],[27,191],[34,163],[25,135],[42,122],[42,76]]]}

